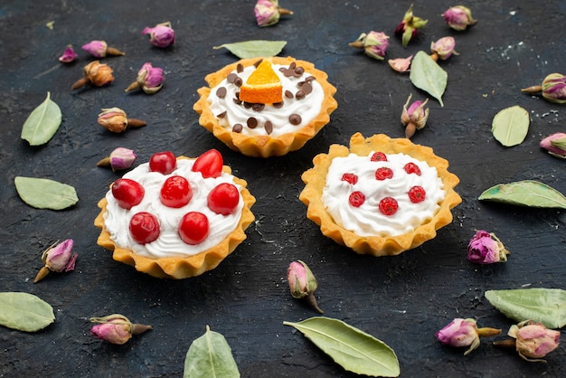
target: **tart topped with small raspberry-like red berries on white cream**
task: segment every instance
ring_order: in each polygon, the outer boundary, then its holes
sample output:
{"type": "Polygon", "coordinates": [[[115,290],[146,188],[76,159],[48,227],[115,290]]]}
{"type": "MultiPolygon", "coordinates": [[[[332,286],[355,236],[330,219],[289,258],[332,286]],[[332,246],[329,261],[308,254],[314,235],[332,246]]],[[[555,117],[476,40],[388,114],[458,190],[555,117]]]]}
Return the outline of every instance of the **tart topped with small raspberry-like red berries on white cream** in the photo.
{"type": "Polygon", "coordinates": [[[397,255],[436,237],[462,202],[457,175],[427,146],[356,133],[313,159],[299,195],[321,232],[357,253],[397,255]]]}

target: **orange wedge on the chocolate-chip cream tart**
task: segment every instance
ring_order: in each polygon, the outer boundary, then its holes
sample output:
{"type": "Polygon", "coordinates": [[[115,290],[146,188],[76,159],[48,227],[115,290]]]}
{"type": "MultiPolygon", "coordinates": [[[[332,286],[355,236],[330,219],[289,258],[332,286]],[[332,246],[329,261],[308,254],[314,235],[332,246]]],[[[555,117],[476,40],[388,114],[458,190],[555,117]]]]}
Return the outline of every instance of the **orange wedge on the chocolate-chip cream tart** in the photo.
{"type": "Polygon", "coordinates": [[[258,68],[240,87],[240,99],[253,104],[283,101],[283,85],[270,61],[261,61],[258,68]]]}

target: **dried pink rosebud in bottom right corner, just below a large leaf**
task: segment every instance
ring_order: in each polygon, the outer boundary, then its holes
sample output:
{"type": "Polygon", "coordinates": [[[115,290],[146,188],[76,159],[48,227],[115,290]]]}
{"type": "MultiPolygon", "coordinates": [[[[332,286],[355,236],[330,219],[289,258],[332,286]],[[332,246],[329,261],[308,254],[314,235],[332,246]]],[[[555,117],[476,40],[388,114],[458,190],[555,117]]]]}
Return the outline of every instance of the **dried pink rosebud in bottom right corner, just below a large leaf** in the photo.
{"type": "Polygon", "coordinates": [[[531,363],[545,362],[542,357],[560,344],[560,331],[548,329],[532,320],[524,320],[516,326],[511,326],[507,335],[514,340],[496,341],[494,345],[514,346],[521,358],[531,363]]]}

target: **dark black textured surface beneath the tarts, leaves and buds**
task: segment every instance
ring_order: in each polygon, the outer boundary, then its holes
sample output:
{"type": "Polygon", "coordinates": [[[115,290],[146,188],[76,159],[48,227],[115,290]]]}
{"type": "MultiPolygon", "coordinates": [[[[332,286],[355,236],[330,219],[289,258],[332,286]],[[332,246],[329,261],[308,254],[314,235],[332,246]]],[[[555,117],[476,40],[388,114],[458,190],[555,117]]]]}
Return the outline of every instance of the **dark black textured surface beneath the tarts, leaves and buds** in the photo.
{"type": "MultiPolygon", "coordinates": [[[[514,322],[484,298],[488,289],[565,288],[566,245],[563,211],[533,210],[479,203],[494,184],[535,179],[566,193],[564,161],[538,143],[564,130],[565,108],[521,94],[551,72],[563,72],[562,36],[566,5],[560,1],[476,1],[468,6],[479,20],[463,33],[452,32],[440,14],[448,1],[415,4],[429,19],[420,38],[401,47],[392,30],[410,2],[297,1],[281,5],[295,11],[279,24],[255,25],[252,1],[5,1],[0,5],[0,291],[36,294],[54,307],[56,322],[36,334],[0,327],[0,376],[181,376],[184,355],[205,326],[224,335],[242,376],[349,377],[308,340],[283,326],[316,313],[288,293],[286,271],[305,260],[316,274],[316,291],[325,316],[342,319],[390,345],[401,376],[564,376],[561,345],[548,364],[529,364],[514,351],[486,339],[467,356],[439,345],[435,333],[454,317],[475,317],[479,326],[504,330],[514,322]],[[171,21],[177,42],[152,47],[141,30],[171,21]],[[53,29],[46,23],[54,21],[53,29]],[[297,199],[300,175],[312,158],[333,143],[346,144],[354,132],[402,137],[402,105],[425,93],[408,76],[391,71],[348,47],[370,30],[391,35],[389,58],[406,57],[445,35],[454,35],[460,55],[441,62],[448,71],[445,107],[431,99],[428,126],[413,142],[434,148],[460,177],[463,202],[454,222],[436,239],[391,258],[361,256],[326,239],[307,220],[297,199]],[[104,60],[116,80],[106,88],[71,92],[82,66],[91,59],[80,45],[106,40],[127,53],[104,60]],[[236,58],[212,50],[222,43],[250,39],[287,40],[282,55],[312,61],[337,88],[339,107],[332,120],[301,150],[258,159],[232,152],[198,125],[193,111],[204,76],[236,58]],[[63,65],[57,58],[72,43],[80,56],[63,65]],[[156,95],[125,94],[141,65],[165,69],[156,95]],[[63,113],[61,128],[45,146],[20,139],[25,118],[50,91],[63,113]],[[507,148],[491,135],[495,113],[520,105],[531,115],[523,144],[507,148]],[[146,128],[114,135],[96,123],[101,108],[119,107],[146,128]],[[118,178],[96,166],[116,146],[137,151],[138,161],[161,150],[198,156],[209,148],[222,152],[234,174],[246,179],[257,198],[256,222],[248,239],[222,264],[201,277],[153,279],[118,263],[96,244],[92,222],[97,202],[118,178]],[[75,186],[80,202],[66,211],[36,210],[24,204],[14,176],[51,178],[75,186]],[[278,184],[274,185],[277,180],[278,184]],[[466,259],[467,241],[476,229],[495,232],[512,251],[505,264],[476,266],[466,259]],[[77,268],[32,280],[44,248],[72,238],[77,268]],[[127,345],[108,345],[90,335],[89,317],[121,313],[154,329],[127,345]]],[[[498,337],[503,338],[503,335],[498,337]]]]}

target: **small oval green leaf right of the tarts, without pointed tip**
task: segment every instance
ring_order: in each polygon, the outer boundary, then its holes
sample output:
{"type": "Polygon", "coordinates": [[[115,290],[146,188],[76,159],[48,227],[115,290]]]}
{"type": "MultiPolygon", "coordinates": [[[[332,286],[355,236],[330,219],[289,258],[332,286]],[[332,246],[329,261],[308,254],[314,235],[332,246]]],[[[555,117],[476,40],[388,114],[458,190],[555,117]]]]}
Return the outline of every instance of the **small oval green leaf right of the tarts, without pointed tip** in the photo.
{"type": "Polygon", "coordinates": [[[491,132],[495,139],[504,146],[517,146],[523,143],[529,131],[529,112],[515,105],[500,110],[491,124],[491,132]]]}

